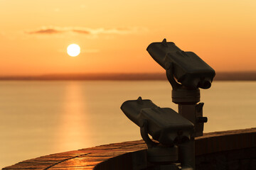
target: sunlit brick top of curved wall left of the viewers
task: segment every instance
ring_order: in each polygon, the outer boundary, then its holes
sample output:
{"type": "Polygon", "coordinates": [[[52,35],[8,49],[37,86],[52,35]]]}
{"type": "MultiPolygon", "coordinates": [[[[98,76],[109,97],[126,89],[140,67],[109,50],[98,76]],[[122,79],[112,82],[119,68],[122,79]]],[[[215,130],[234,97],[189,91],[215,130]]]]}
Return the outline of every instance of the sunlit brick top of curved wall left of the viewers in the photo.
{"type": "MultiPolygon", "coordinates": [[[[145,149],[143,140],[122,142],[29,159],[4,169],[93,169],[113,157],[145,149]]],[[[124,159],[126,160],[126,159],[124,159]]],[[[119,160],[122,162],[122,159],[119,160]]]]}

